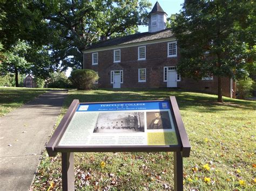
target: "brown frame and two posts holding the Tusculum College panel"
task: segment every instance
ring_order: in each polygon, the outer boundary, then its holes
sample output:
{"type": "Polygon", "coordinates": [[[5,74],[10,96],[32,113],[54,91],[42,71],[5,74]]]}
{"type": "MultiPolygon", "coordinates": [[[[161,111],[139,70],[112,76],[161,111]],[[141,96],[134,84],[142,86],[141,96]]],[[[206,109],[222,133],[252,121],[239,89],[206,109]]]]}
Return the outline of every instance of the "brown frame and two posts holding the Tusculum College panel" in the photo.
{"type": "MultiPolygon", "coordinates": [[[[160,102],[156,101],[133,101],[122,102],[123,105],[139,105],[138,103],[160,102]]],[[[80,110],[86,111],[88,105],[122,105],[120,102],[100,102],[100,103],[79,103],[78,100],[73,100],[68,111],[60,122],[58,128],[53,133],[46,150],[50,157],[55,157],[58,152],[62,153],[62,188],[63,190],[75,190],[75,172],[74,172],[74,152],[173,152],[174,155],[174,190],[183,190],[183,157],[189,157],[191,146],[188,141],[184,124],[181,120],[178,104],[174,96],[170,100],[163,101],[163,108],[166,107],[166,102],[170,105],[169,114],[172,116],[173,131],[176,139],[176,144],[148,144],[148,145],[62,145],[60,144],[64,133],[67,130],[71,120],[76,112],[80,110]],[[81,106],[82,105],[82,106],[81,106]]],[[[140,109],[140,108],[136,108],[140,109]]],[[[129,116],[130,117],[130,116],[129,116]]],[[[123,123],[123,122],[122,122],[123,123]]],[[[131,127],[130,127],[131,128],[131,127]]],[[[114,129],[114,128],[113,128],[114,129]]],[[[98,126],[95,126],[98,131],[98,126]]],[[[136,128],[134,128],[136,131],[136,128]]],[[[153,130],[153,132],[156,132],[153,130]]],[[[170,138],[170,137],[169,137],[170,138]]]]}

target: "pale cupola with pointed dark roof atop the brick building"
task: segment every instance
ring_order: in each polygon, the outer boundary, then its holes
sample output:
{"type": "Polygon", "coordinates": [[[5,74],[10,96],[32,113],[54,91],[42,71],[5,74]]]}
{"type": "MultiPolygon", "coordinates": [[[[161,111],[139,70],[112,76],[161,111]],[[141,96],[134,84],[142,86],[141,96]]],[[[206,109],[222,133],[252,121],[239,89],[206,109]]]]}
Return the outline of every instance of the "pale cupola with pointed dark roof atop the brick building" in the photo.
{"type": "Polygon", "coordinates": [[[160,4],[156,2],[149,13],[149,32],[164,30],[166,28],[166,17],[166,12],[164,12],[160,4]]]}

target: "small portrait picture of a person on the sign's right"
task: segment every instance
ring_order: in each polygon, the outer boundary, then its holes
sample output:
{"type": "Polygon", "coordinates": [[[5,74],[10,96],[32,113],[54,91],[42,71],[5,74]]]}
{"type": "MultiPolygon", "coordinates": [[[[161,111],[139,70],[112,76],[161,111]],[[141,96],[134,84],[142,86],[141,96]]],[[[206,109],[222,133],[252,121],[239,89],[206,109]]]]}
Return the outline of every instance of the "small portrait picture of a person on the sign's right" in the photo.
{"type": "Polygon", "coordinates": [[[146,112],[147,129],[172,129],[168,111],[146,112]]]}

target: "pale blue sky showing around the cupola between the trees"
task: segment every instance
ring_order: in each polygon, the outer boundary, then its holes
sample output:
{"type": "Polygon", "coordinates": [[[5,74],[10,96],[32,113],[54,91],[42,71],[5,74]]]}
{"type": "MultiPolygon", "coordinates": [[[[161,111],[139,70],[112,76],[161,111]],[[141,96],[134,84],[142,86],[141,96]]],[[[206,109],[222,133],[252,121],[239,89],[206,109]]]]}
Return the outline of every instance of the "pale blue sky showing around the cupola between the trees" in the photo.
{"type": "MultiPolygon", "coordinates": [[[[149,2],[151,2],[153,8],[157,0],[149,0],[149,2]]],[[[184,0],[158,0],[161,8],[167,13],[167,17],[170,17],[170,15],[174,13],[178,13],[183,2],[184,0]]],[[[139,26],[139,32],[147,32],[147,30],[147,26],[139,26]]]]}

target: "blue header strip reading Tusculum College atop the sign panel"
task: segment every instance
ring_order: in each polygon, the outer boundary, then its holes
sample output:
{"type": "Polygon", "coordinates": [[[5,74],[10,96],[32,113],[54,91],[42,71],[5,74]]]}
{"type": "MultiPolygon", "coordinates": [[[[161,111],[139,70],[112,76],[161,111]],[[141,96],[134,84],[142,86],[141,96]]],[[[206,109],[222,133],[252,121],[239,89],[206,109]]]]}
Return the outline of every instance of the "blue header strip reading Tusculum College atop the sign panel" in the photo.
{"type": "Polygon", "coordinates": [[[79,104],[77,111],[126,111],[170,109],[168,101],[79,104]]]}

